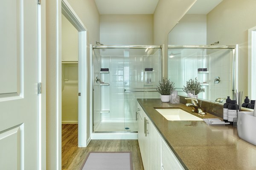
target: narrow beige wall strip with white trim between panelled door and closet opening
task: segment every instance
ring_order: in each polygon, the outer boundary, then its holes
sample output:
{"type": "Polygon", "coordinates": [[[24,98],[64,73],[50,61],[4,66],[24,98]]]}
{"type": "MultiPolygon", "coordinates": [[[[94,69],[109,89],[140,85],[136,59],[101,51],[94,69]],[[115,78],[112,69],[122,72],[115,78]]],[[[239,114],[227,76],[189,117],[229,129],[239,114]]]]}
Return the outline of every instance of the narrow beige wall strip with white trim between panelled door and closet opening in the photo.
{"type": "Polygon", "coordinates": [[[59,86],[61,73],[58,66],[61,63],[61,1],[46,1],[46,169],[61,168],[61,100],[59,86]],[[59,13],[57,13],[57,10],[59,13]],[[60,168],[58,168],[60,167],[60,168]]]}

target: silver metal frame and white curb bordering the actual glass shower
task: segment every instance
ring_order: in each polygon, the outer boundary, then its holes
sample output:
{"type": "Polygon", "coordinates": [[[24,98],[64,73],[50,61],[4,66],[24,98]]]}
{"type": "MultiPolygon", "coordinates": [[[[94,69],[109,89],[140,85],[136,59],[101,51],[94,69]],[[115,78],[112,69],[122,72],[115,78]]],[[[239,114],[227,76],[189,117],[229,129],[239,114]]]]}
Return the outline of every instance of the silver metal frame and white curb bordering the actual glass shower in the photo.
{"type": "Polygon", "coordinates": [[[91,139],[137,139],[137,132],[117,132],[117,131],[109,131],[109,132],[94,132],[93,131],[93,49],[160,49],[161,56],[160,56],[160,80],[163,78],[163,46],[159,45],[90,45],[90,72],[91,72],[91,79],[90,79],[90,135],[91,139]]]}

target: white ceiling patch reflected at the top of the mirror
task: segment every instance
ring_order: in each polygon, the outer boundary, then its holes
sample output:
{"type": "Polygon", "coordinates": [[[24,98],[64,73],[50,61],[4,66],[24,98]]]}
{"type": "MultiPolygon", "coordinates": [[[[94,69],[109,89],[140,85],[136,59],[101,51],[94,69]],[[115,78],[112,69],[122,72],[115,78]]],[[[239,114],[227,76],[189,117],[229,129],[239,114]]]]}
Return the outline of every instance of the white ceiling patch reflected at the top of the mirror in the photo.
{"type": "Polygon", "coordinates": [[[222,0],[197,0],[186,14],[208,14],[222,0]]]}

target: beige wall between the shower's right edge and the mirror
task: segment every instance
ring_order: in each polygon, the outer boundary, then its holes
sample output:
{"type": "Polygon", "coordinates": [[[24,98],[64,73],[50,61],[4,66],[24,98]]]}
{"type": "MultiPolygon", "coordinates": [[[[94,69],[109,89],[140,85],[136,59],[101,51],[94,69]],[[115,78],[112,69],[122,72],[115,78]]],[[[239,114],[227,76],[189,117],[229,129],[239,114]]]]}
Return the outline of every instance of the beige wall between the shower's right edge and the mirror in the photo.
{"type": "Polygon", "coordinates": [[[167,78],[168,33],[196,0],[159,0],[154,12],[154,45],[165,44],[163,76],[167,78]]]}

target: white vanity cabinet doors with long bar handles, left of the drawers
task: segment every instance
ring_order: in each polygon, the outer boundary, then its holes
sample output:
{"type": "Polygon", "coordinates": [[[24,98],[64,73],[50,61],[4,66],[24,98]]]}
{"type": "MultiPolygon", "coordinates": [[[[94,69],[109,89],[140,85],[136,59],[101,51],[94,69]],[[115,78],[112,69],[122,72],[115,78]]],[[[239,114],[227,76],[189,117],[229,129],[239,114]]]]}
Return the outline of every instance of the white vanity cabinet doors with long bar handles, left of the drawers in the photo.
{"type": "Polygon", "coordinates": [[[161,136],[140,104],[137,106],[138,141],[144,170],[161,170],[161,136]]]}

